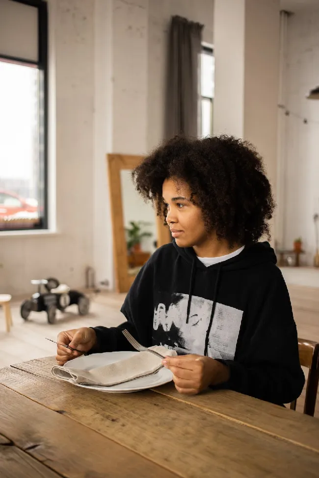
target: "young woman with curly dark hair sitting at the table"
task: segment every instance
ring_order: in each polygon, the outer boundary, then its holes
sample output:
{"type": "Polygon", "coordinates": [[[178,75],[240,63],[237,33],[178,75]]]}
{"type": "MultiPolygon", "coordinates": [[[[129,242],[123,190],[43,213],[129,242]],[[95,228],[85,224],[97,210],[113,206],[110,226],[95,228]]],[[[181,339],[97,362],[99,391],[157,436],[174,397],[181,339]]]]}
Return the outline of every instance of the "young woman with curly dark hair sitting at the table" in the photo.
{"type": "MultiPolygon", "coordinates": [[[[133,171],[173,241],[136,276],[118,327],[62,332],[58,342],[83,352],[133,350],[122,329],[167,357],[177,390],[229,388],[289,403],[304,385],[288,290],[267,242],[274,201],[263,161],[234,137],[176,137],[133,171]]],[[[58,347],[59,364],[78,356],[58,347]]]]}

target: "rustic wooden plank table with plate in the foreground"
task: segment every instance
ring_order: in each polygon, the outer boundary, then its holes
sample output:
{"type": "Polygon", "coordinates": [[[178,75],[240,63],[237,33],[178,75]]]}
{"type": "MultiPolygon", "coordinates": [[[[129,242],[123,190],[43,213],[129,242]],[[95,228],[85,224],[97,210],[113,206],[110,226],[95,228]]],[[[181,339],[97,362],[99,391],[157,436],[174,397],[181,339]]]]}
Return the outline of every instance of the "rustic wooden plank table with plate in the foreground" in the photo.
{"type": "Polygon", "coordinates": [[[87,390],[53,362],[0,370],[1,478],[319,476],[316,418],[232,391],[87,390]]]}

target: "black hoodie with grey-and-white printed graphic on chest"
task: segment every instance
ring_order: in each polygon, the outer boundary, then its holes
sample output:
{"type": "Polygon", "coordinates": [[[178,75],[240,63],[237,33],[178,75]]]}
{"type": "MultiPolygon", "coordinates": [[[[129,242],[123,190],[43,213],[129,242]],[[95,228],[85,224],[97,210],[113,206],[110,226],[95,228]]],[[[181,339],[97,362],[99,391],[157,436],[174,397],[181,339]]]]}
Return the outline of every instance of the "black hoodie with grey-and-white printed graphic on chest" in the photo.
{"type": "Polygon", "coordinates": [[[136,276],[121,308],[127,322],[95,327],[98,351],[133,350],[127,328],[145,347],[198,353],[230,368],[229,388],[268,402],[299,397],[304,375],[288,290],[267,242],[206,267],[175,241],[158,249],[136,276]]]}

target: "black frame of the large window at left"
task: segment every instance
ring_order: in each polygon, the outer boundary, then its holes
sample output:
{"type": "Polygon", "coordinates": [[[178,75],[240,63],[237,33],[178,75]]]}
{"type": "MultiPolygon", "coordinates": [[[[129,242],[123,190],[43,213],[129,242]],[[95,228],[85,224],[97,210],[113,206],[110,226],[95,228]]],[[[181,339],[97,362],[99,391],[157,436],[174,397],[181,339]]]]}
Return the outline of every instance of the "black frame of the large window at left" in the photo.
{"type": "Polygon", "coordinates": [[[48,117],[49,117],[49,101],[48,101],[48,4],[45,0],[11,0],[17,3],[23,3],[38,9],[38,61],[19,58],[17,56],[9,56],[1,54],[0,61],[4,60],[9,63],[16,63],[18,65],[34,67],[42,71],[43,86],[39,91],[39,110],[43,110],[43,115],[39,118],[39,144],[43,144],[43,153],[39,150],[39,181],[43,184],[39,189],[43,191],[43,214],[41,215],[38,224],[30,227],[16,227],[7,228],[0,226],[0,232],[11,231],[27,231],[48,229],[49,215],[48,215],[48,117]],[[43,92],[43,98],[41,95],[43,92]],[[43,155],[43,158],[41,156],[43,155]]]}

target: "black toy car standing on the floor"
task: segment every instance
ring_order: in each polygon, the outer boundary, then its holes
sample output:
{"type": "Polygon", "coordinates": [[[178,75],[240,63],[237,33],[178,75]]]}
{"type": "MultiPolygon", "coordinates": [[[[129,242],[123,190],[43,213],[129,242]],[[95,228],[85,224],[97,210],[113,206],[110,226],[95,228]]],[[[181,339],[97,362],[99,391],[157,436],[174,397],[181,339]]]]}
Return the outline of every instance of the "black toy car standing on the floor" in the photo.
{"type": "Polygon", "coordinates": [[[46,311],[49,324],[54,324],[56,309],[62,312],[72,304],[77,304],[79,314],[85,315],[89,311],[89,299],[76,290],[71,290],[65,284],[60,284],[54,277],[48,279],[31,280],[31,284],[38,286],[38,292],[32,295],[31,299],[27,299],[21,304],[21,317],[27,320],[30,312],[46,311]],[[42,292],[43,286],[45,292],[42,292]]]}

